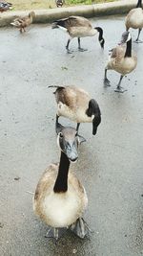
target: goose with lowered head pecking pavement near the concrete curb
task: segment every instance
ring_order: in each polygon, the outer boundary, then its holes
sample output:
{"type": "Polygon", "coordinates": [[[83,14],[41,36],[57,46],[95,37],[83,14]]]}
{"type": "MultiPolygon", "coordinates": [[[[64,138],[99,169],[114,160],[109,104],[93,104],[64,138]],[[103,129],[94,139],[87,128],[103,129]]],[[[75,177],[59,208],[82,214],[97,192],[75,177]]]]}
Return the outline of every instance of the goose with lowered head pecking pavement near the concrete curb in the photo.
{"type": "Polygon", "coordinates": [[[92,28],[91,22],[84,17],[80,16],[70,16],[68,18],[59,19],[53,22],[52,29],[60,28],[65,30],[69,35],[70,38],[66,45],[66,49],[68,53],[72,53],[69,50],[69,44],[74,37],[78,37],[78,50],[83,52],[86,51],[85,49],[81,48],[80,46],[80,37],[85,36],[93,36],[96,35],[97,32],[99,33],[99,43],[102,48],[104,48],[104,38],[103,38],[103,30],[100,27],[92,28]]]}

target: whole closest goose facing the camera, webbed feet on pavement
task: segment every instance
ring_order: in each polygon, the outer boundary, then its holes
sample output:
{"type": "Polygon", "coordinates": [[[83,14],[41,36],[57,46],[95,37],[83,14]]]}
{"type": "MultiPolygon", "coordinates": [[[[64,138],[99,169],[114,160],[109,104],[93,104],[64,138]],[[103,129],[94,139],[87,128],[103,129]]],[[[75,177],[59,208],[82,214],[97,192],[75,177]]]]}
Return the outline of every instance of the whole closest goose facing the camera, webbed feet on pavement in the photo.
{"type": "Polygon", "coordinates": [[[60,163],[51,164],[41,176],[34,193],[33,210],[51,226],[47,237],[57,240],[60,236],[58,228],[69,227],[77,236],[84,238],[88,226],[81,216],[88,205],[88,198],[81,182],[69,170],[70,163],[78,158],[77,131],[58,127],[57,145],[61,151],[60,163]]]}

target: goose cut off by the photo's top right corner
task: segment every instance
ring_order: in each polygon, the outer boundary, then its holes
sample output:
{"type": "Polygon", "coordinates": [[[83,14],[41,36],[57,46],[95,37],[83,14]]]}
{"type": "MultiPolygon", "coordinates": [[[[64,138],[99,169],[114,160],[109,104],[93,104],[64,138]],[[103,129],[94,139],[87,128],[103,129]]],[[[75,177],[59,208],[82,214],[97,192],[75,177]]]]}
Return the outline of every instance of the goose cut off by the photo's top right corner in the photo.
{"type": "Polygon", "coordinates": [[[131,10],[125,19],[126,30],[130,28],[138,29],[138,35],[135,42],[141,42],[139,40],[140,32],[143,28],[143,10],[142,10],[142,0],[138,0],[136,8],[131,10]]]}

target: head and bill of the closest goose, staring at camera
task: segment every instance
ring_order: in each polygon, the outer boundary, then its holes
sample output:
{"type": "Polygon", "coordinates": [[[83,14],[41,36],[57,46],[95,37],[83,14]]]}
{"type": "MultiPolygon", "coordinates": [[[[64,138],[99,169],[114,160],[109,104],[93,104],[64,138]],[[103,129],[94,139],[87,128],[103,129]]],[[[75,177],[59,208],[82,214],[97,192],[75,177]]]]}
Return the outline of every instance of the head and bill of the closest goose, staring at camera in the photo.
{"type": "Polygon", "coordinates": [[[61,126],[61,129],[58,129],[57,145],[71,162],[77,160],[79,139],[75,128],[64,128],[61,126]]]}

